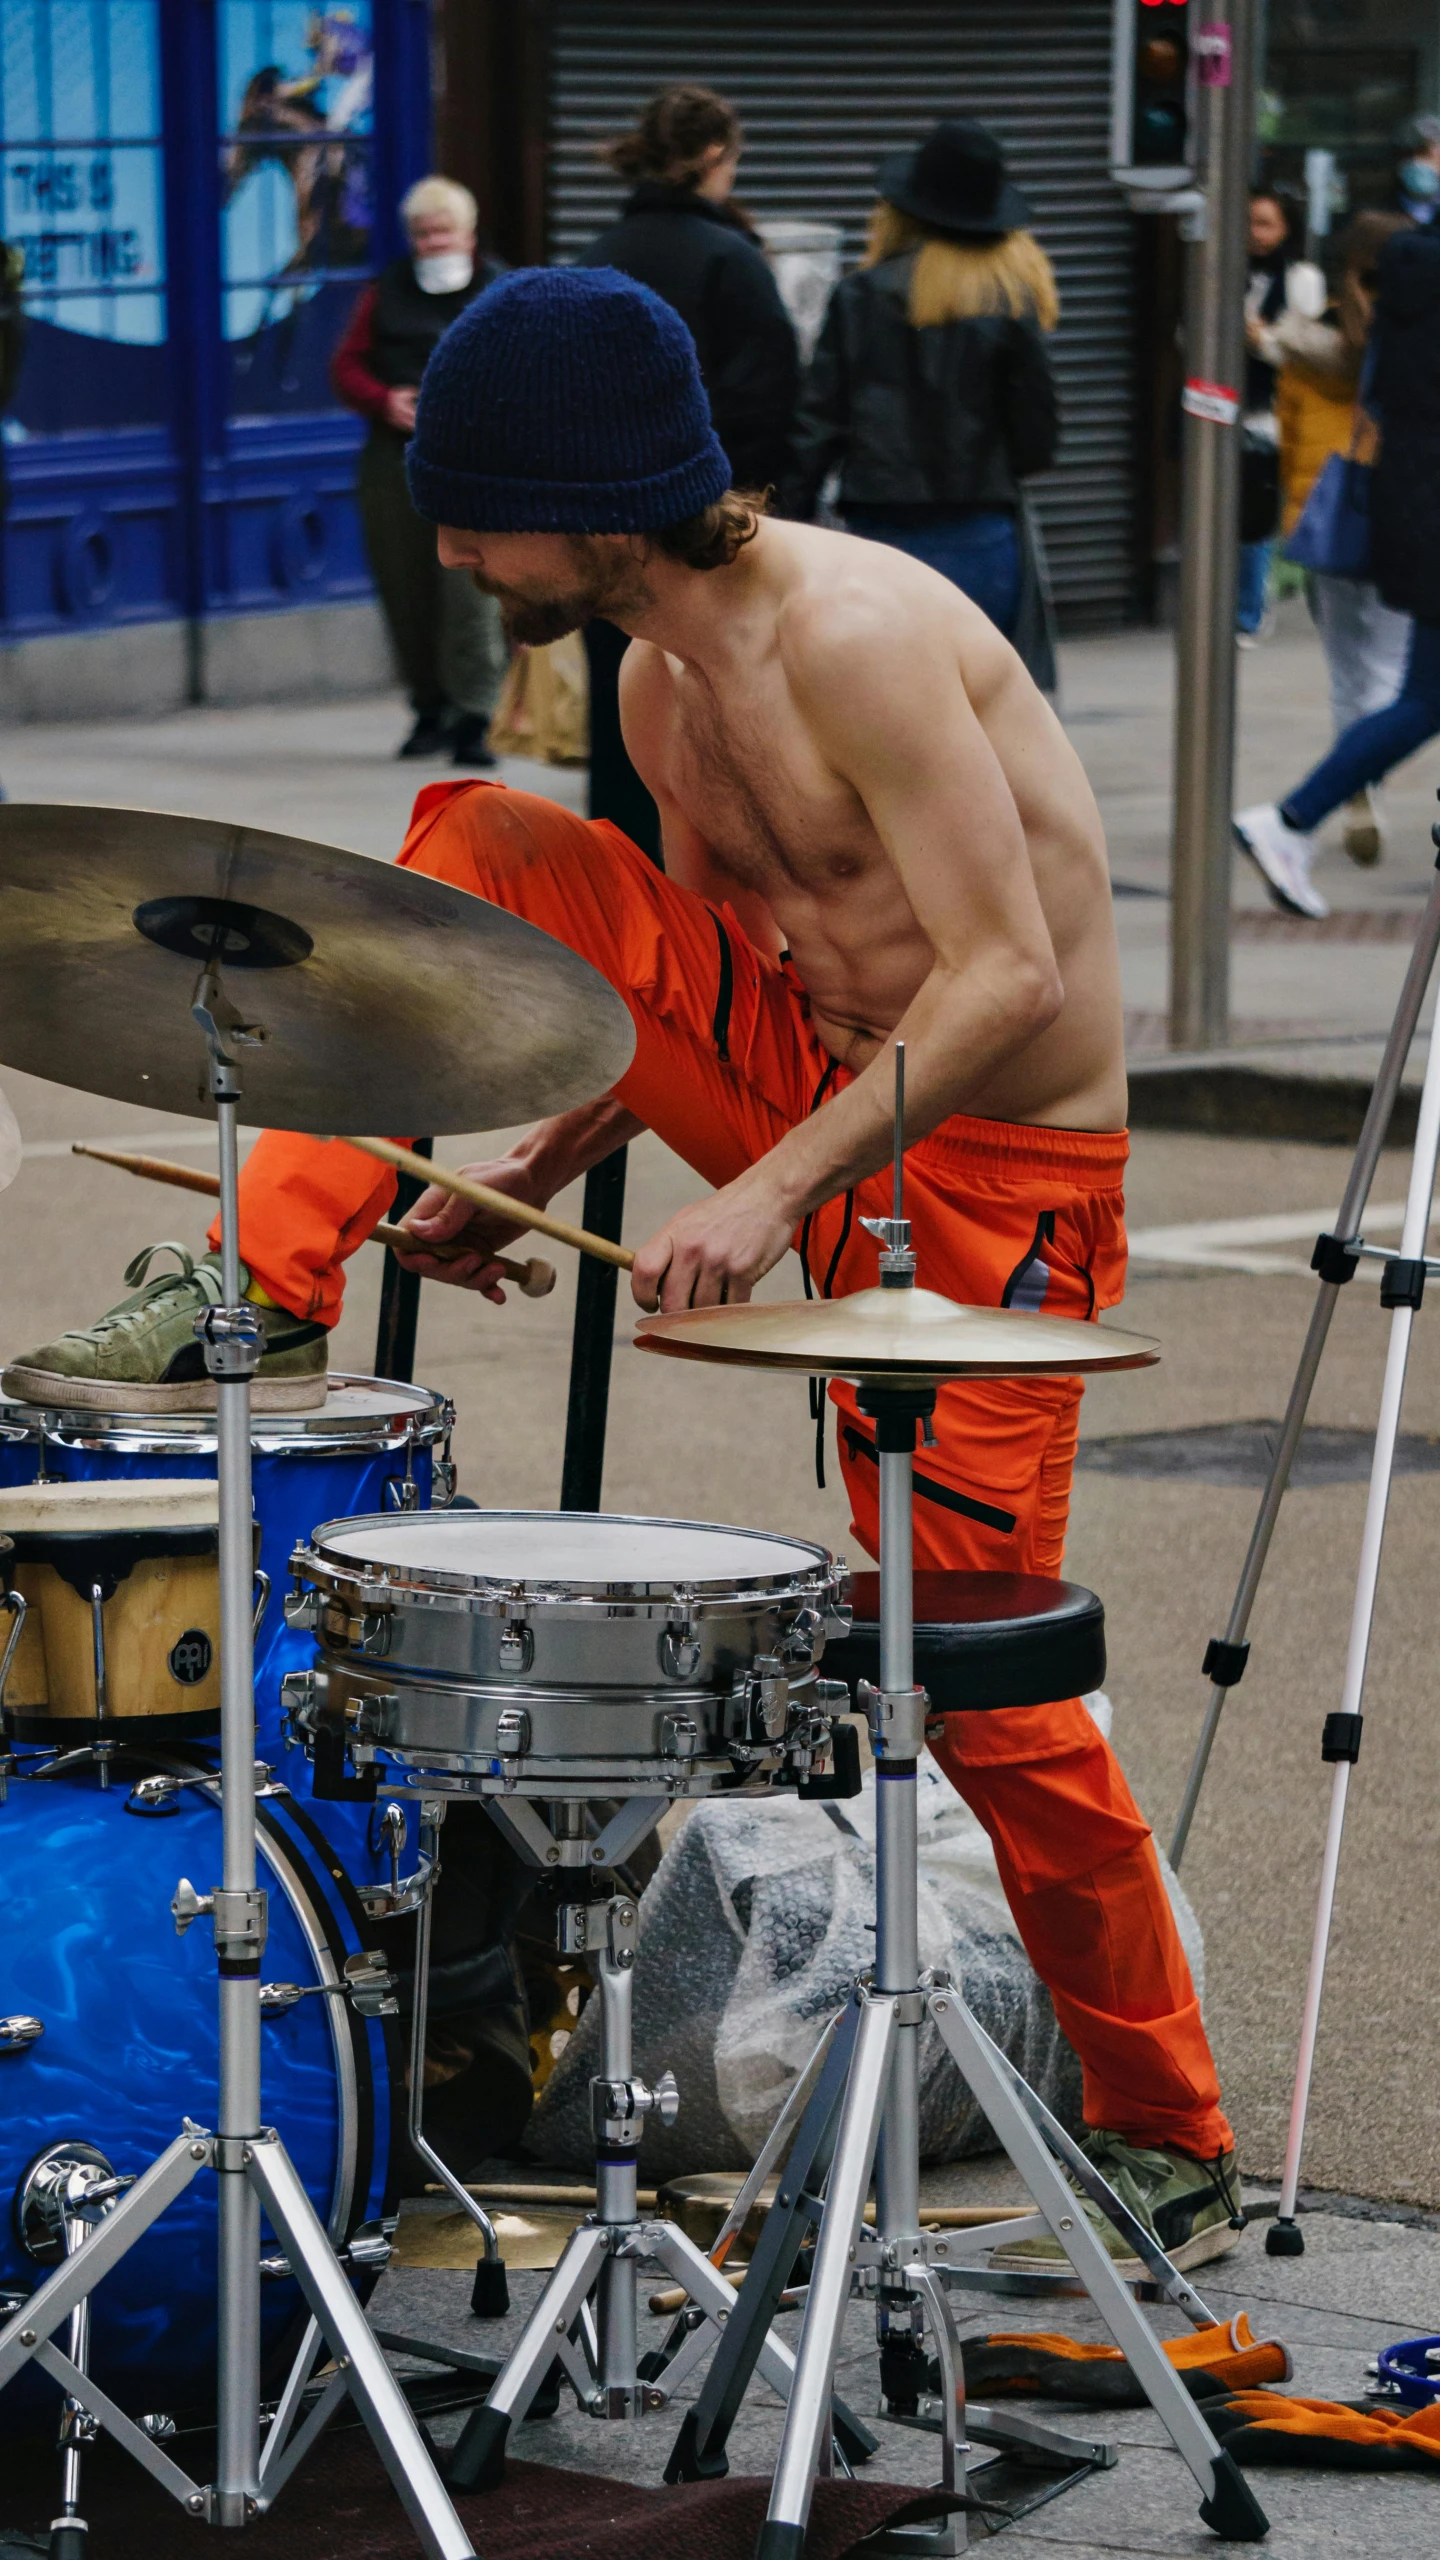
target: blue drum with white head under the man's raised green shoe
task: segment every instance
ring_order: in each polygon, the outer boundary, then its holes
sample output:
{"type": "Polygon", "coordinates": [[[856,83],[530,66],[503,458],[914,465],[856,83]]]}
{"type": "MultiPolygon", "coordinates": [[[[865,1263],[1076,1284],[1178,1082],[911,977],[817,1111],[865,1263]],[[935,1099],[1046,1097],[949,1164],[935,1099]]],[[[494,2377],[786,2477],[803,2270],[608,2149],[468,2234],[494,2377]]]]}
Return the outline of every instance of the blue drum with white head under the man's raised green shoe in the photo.
{"type": "MultiPolygon", "coordinates": [[[[315,1413],[256,1413],[251,1421],[259,1569],[272,1595],[256,1636],[256,1756],[300,1795],[313,1774],[302,1751],[287,1754],[279,1682],[310,1669],[315,1638],[284,1626],[292,1549],[320,1521],[361,1510],[428,1510],[454,1492],[454,1405],[430,1388],[331,1370],[315,1413]]],[[[0,1403],[0,1485],[56,1477],[67,1485],[118,1477],[215,1475],[213,1413],[69,1413],[0,1403]]],[[[0,1620],[0,1644],[3,1644],[0,1620]]],[[[379,1882],[369,1807],[318,1805],[325,1836],[356,1882],[379,1882]]]]}

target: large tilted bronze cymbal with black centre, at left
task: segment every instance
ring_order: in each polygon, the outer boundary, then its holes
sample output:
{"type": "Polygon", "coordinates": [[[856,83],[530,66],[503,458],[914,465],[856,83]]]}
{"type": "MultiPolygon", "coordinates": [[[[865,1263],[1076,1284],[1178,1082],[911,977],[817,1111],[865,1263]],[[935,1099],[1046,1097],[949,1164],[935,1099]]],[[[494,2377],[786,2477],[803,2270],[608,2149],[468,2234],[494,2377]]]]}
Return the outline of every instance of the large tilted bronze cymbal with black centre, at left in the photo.
{"type": "Polygon", "coordinates": [[[0,806],[0,1062],[208,1111],[190,996],[215,934],[264,1027],[251,1126],[502,1129],[605,1093],[623,998],[564,942],[418,870],[151,809],[0,806]]]}

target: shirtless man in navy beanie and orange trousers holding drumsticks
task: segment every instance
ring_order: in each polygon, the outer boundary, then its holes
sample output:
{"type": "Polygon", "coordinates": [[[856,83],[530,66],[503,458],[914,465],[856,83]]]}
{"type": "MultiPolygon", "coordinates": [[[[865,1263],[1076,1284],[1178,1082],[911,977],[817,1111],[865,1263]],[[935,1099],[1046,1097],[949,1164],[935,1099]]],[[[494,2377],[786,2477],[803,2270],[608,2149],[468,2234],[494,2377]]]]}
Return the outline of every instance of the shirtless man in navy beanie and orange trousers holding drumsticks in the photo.
{"type": "MultiPolygon", "coordinates": [[[[607,822],[489,783],[420,794],[400,860],[584,952],[630,1006],[635,1057],[615,1093],[474,1167],[515,1196],[512,1224],[425,1193],[413,1267],[500,1298],[492,1257],[523,1234],[523,1203],[656,1129],[712,1190],[641,1249],[641,1306],[748,1298],[792,1244],[822,1293],[866,1288],[861,1216],[887,1208],[902,1034],[922,1280],[1079,1321],[1115,1306],[1125,1068],[1104,840],[1074,750],[984,614],[897,550],[735,499],[687,330],[605,269],[512,274],[471,305],[430,358],[410,486],[441,561],[471,568],[515,640],[592,614],[633,635],[625,740],[666,850],[659,873],[607,822]],[[469,1252],[436,1262],[441,1239],[469,1252]]],[[[256,1403],[323,1393],[343,1260],[392,1193],[343,1142],[256,1144],[241,1183],[266,1311],[256,1403]]],[[[149,1283],[5,1385],[182,1400],[205,1295],[205,1265],[149,1283]]],[[[830,1395],[874,1554],[874,1431],[848,1385],[830,1395]]],[[[945,1385],[917,1467],[917,1567],[1058,1574],[1076,1413],[1076,1380],[945,1385]]],[[[1097,2158],[1181,2263],[1215,2255],[1232,2237],[1232,2138],[1109,1746],[1066,1700],[951,1718],[935,1756],[994,1841],[1081,2056],[1097,2158]]]]}

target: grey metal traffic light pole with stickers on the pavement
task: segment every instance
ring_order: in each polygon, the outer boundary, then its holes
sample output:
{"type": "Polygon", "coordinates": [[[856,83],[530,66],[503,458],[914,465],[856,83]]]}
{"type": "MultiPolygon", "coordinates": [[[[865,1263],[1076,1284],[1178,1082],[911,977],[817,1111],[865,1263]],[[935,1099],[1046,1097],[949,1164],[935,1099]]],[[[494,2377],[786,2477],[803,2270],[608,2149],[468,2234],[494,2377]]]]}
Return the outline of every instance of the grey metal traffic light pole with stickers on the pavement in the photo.
{"type": "Polygon", "coordinates": [[[1230,1037],[1235,573],[1258,0],[1202,0],[1204,236],[1189,246],[1171,842],[1171,1047],[1230,1037]]]}

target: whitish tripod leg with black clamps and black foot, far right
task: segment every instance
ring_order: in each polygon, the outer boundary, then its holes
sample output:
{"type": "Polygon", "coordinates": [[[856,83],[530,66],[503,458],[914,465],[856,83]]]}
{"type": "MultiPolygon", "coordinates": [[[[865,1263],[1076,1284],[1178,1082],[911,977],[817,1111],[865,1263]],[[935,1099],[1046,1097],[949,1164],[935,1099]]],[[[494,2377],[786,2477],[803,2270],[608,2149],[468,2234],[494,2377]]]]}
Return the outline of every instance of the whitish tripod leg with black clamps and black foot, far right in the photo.
{"type": "Polygon", "coordinates": [[[1286,2140],[1286,2166],[1279,2220],[1266,2232],[1271,2258],[1299,2258],[1302,2230],[1294,2220],[1299,2196],[1299,2161],[1304,2150],[1304,2120],[1309,2109],[1309,2079],[1314,2071],[1314,2040],[1320,2033],[1320,2002],[1325,1997],[1325,1958],[1330,1951],[1330,1920],[1335,1912],[1335,1882],[1340,1874],[1340,1841],[1345,1836],[1345,1800],[1350,1769],[1361,1756],[1361,1725],[1366,1697],[1366,1664],[1371,1654],[1371,1626],[1376,1615],[1376,1590],[1381,1580],[1381,1549],[1386,1536],[1389,1487],[1394,1475],[1394,1444],[1399,1439],[1399,1411],[1404,1403],[1404,1372],[1409,1362],[1409,1336],[1420,1308],[1425,1272],[1440,1265],[1425,1262],[1425,1236],[1430,1203],[1435,1198],[1435,1160],[1440,1157],[1440,1009],[1430,1032],[1430,1060],[1425,1065],[1425,1091],[1420,1096],[1420,1124],[1414,1132],[1414,1160],[1409,1167],[1409,1193],[1404,1201],[1404,1229],[1399,1257],[1386,1262],[1381,1303],[1391,1308],[1391,1334],[1386,1375],[1381,1388],[1381,1413],[1376,1423],[1376,1452],[1371,1459],[1371,1492],[1366,1500],[1366,1528],[1361,1536],[1361,1569],[1355,1577],[1355,1605],[1350,1613],[1350,1646],[1345,1654],[1345,1687],[1340,1713],[1325,1718],[1322,1754],[1335,1764],[1330,1789],[1330,1825],[1325,1830],[1325,1856],[1320,1864],[1320,1900],[1314,1907],[1314,1938],[1309,1948],[1309,1979],[1304,1984],[1304,2017],[1299,2030],[1299,2061],[1294,2071],[1294,2097],[1286,2140]]]}

